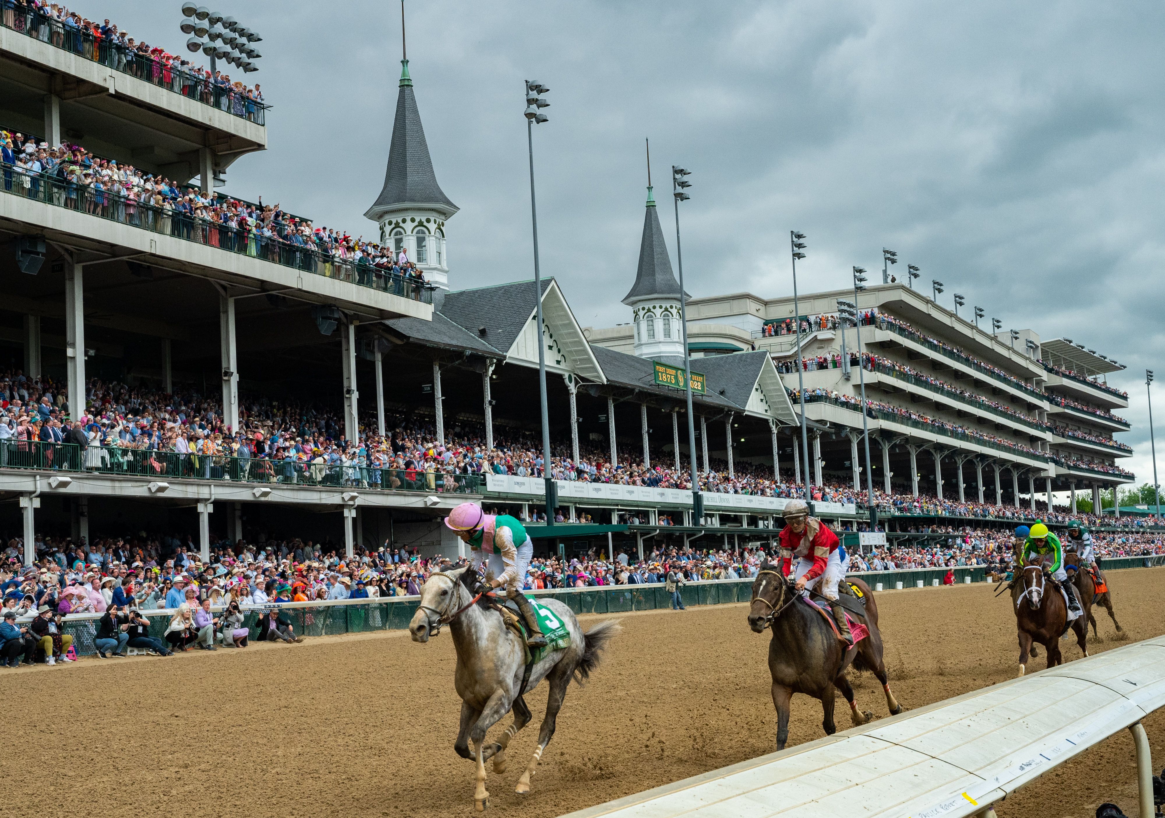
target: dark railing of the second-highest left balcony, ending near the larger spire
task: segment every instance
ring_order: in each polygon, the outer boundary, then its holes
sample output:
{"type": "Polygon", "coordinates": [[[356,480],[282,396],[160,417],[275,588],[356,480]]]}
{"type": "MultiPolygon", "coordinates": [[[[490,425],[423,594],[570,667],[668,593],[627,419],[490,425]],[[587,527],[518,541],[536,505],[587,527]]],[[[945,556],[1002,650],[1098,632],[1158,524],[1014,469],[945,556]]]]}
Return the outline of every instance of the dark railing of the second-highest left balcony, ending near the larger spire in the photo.
{"type": "Polygon", "coordinates": [[[3,174],[3,191],[13,196],[291,267],[325,278],[368,287],[402,298],[432,303],[436,289],[433,284],[384,273],[363,259],[360,262],[339,259],[331,253],[306,245],[291,244],[276,235],[262,235],[254,230],[231,227],[169,206],[155,207],[72,179],[61,179],[55,174],[30,174],[12,164],[0,164],[0,169],[3,174]]]}

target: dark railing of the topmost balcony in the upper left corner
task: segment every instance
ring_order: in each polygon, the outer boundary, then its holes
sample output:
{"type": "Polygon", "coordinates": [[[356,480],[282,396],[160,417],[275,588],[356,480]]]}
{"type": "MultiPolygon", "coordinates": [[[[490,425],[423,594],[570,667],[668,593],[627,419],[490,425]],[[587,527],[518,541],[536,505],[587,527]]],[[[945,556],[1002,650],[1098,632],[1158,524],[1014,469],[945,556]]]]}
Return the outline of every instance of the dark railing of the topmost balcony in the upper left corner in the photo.
{"type": "Polygon", "coordinates": [[[7,29],[24,34],[42,43],[48,43],[64,51],[76,54],[84,59],[91,59],[105,68],[119,71],[130,77],[156,85],[167,91],[179,93],[204,105],[234,114],[240,119],[266,125],[266,112],[269,105],[253,99],[249,94],[216,85],[203,73],[171,66],[154,59],[148,54],[133,51],[120,41],[94,37],[90,31],[83,31],[77,26],[55,20],[31,5],[16,3],[14,0],[0,0],[2,15],[0,21],[7,29]]]}

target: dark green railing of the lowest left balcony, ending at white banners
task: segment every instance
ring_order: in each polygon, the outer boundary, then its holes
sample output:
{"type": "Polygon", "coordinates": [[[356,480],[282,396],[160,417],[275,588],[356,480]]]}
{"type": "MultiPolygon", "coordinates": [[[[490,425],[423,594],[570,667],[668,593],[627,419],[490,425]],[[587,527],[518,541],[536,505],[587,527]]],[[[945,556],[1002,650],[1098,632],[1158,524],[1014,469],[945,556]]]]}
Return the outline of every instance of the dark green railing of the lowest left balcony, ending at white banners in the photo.
{"type": "Polygon", "coordinates": [[[0,440],[0,468],[87,472],[150,480],[216,480],[308,487],[358,487],[396,492],[480,494],[479,474],[416,468],[268,460],[219,454],[179,454],[153,449],[78,446],[72,443],[0,440]]]}

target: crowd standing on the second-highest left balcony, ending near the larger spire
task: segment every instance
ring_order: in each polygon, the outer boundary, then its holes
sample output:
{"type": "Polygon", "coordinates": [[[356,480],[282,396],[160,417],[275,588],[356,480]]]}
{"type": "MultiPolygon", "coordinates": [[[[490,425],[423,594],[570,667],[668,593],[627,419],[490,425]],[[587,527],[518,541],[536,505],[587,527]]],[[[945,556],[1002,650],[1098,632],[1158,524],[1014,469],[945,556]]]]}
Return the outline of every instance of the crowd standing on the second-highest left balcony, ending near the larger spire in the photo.
{"type": "Polygon", "coordinates": [[[394,251],[363,237],[264,205],[213,193],[132,164],[101,158],[77,144],[51,147],[15,131],[0,131],[6,191],[175,235],[196,244],[289,265],[327,277],[419,298],[424,275],[404,246],[394,251]]]}

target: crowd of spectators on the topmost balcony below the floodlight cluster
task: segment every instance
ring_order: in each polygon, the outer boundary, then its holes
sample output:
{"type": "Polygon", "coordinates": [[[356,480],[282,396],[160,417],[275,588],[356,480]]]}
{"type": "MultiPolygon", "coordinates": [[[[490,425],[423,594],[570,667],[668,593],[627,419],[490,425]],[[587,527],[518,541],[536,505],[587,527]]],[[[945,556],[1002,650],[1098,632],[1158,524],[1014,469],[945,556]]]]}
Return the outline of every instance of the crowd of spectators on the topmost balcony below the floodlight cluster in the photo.
{"type": "Polygon", "coordinates": [[[136,40],[108,20],[87,20],[63,3],[44,0],[0,0],[5,28],[128,73],[223,111],[263,122],[263,94],[256,84],[213,73],[183,56],[136,40]]]}

